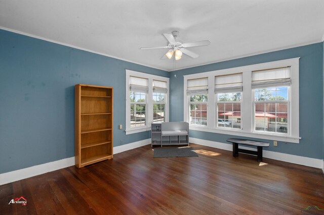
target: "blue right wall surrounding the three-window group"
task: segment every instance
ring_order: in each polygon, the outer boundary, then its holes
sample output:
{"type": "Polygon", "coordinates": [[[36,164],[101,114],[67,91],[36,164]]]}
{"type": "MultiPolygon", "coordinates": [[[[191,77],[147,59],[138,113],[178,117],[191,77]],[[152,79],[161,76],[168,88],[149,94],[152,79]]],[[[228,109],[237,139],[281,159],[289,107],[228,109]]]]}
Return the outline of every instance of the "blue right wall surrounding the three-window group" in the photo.
{"type": "MultiPolygon", "coordinates": [[[[183,121],[183,75],[300,57],[300,143],[280,143],[267,150],[323,159],[323,43],[264,53],[205,66],[174,71],[170,75],[170,121],[183,121]],[[177,78],[174,77],[176,74],[177,78]]],[[[226,142],[232,136],[190,131],[190,137],[226,142]]]]}

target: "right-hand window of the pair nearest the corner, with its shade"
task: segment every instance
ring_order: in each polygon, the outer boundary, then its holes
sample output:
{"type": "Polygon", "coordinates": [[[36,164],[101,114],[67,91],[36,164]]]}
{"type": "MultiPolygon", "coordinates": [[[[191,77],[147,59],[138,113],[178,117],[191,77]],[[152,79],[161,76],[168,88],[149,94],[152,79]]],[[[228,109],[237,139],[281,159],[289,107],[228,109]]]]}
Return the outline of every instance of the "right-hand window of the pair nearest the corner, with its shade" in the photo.
{"type": "Polygon", "coordinates": [[[165,122],[167,82],[153,80],[153,122],[165,122]]]}

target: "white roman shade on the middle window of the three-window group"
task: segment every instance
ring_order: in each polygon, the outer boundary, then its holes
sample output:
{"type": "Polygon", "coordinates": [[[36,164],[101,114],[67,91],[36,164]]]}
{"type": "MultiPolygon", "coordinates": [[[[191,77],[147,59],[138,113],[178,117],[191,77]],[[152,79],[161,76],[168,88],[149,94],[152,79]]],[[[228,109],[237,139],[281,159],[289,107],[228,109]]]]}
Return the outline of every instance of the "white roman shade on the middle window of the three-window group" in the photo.
{"type": "Polygon", "coordinates": [[[242,92],[242,73],[215,76],[215,93],[242,92]]]}

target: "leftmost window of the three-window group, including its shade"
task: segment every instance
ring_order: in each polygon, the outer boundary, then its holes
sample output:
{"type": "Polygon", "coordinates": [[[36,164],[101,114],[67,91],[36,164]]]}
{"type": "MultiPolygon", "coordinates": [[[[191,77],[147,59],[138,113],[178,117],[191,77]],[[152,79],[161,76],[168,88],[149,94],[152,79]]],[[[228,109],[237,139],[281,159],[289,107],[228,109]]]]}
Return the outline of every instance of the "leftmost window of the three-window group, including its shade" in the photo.
{"type": "Polygon", "coordinates": [[[189,123],[207,126],[208,78],[188,80],[189,123]]]}

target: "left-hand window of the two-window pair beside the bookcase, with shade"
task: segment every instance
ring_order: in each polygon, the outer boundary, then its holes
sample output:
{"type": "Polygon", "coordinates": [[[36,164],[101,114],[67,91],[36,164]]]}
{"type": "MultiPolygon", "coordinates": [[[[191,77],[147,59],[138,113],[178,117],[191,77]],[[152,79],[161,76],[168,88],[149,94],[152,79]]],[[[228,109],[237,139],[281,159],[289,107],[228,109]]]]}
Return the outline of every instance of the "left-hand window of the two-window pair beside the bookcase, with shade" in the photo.
{"type": "Polygon", "coordinates": [[[146,126],[148,80],[130,77],[131,128],[146,126]]]}

